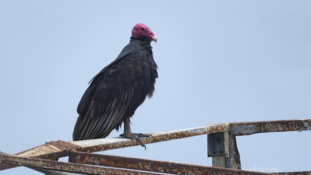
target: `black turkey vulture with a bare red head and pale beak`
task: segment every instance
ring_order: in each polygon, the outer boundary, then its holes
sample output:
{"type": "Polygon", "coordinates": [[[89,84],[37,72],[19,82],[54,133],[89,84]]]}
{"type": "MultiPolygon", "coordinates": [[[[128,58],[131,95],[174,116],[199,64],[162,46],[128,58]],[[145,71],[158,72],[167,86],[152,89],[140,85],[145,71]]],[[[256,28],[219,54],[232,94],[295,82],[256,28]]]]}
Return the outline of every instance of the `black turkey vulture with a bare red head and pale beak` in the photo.
{"type": "Polygon", "coordinates": [[[146,25],[135,25],[129,44],[117,59],[91,79],[77,107],[73,141],[105,138],[112,130],[118,131],[123,122],[124,133],[120,136],[136,139],[146,149],[139,137],[151,135],[132,133],[130,118],[155,90],[158,66],[153,59],[152,40],[156,42],[157,38],[146,25]]]}

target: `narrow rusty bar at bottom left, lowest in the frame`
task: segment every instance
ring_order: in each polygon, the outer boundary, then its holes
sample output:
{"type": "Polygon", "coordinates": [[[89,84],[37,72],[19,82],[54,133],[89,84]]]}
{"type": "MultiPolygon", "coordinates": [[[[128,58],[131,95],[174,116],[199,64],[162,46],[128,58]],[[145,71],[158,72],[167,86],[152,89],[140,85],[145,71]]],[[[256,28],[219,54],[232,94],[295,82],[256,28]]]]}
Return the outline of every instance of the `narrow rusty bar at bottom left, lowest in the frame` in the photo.
{"type": "Polygon", "coordinates": [[[93,165],[81,165],[77,163],[66,163],[57,162],[53,160],[44,160],[37,158],[25,158],[17,156],[6,156],[0,155],[0,162],[7,164],[18,164],[21,166],[49,168],[60,171],[75,172],[75,173],[86,173],[86,174],[100,174],[100,175],[158,175],[159,173],[142,172],[137,170],[129,170],[123,168],[110,168],[110,167],[99,167],[93,165]]]}

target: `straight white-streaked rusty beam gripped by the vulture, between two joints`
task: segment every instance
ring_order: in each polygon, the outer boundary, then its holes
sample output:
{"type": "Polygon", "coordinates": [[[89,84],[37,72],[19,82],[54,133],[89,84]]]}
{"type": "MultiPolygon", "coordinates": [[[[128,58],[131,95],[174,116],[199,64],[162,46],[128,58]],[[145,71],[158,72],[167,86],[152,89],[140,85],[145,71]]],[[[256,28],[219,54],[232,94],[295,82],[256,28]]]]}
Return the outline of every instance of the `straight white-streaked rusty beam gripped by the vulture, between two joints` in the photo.
{"type": "MultiPolygon", "coordinates": [[[[156,143],[156,142],[181,139],[181,138],[192,137],[192,136],[197,136],[197,135],[205,135],[205,134],[210,134],[210,133],[223,132],[223,131],[228,131],[228,130],[229,130],[228,123],[217,124],[217,125],[207,125],[207,126],[197,127],[197,128],[151,133],[153,137],[144,137],[142,138],[142,141],[145,144],[151,144],[151,143],[156,143]]],[[[118,149],[118,148],[125,148],[125,147],[140,145],[137,140],[125,139],[123,137],[94,139],[94,140],[81,140],[81,141],[74,141],[70,143],[80,146],[79,148],[75,149],[76,151],[87,152],[87,153],[100,152],[100,151],[105,151],[105,150],[110,150],[110,149],[118,149]]]]}

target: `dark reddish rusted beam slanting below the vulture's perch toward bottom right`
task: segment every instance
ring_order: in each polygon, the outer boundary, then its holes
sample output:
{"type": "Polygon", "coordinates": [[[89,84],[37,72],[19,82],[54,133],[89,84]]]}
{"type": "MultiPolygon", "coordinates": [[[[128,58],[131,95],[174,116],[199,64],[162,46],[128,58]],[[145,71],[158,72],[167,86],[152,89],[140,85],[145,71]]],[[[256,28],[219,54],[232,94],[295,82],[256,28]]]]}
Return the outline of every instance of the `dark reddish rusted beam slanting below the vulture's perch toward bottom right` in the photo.
{"type": "MultiPolygon", "coordinates": [[[[238,174],[249,174],[249,175],[263,175],[269,173],[251,172],[251,171],[234,171],[234,169],[228,168],[217,168],[208,167],[201,165],[192,165],[184,163],[174,163],[165,162],[158,160],[142,159],[142,158],[130,158],[122,156],[111,156],[103,154],[91,154],[82,152],[70,152],[69,162],[90,164],[106,167],[116,167],[116,168],[127,168],[136,169],[142,171],[151,171],[158,173],[168,173],[168,174],[222,174],[222,175],[238,175],[238,174]]],[[[271,174],[270,174],[271,175],[271,174]]]]}

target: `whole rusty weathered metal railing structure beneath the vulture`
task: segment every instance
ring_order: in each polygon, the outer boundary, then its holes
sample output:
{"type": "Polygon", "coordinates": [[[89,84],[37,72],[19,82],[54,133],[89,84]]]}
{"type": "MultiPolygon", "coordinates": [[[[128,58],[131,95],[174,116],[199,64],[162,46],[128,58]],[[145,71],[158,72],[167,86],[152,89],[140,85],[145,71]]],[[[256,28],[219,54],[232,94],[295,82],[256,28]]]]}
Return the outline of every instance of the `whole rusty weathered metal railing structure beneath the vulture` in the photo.
{"type": "MultiPolygon", "coordinates": [[[[213,167],[140,158],[91,154],[93,152],[139,145],[136,140],[129,140],[119,137],[95,140],[81,140],[73,142],[58,140],[46,142],[43,145],[28,149],[15,155],[0,154],[0,170],[14,168],[18,166],[27,166],[28,168],[32,168],[46,174],[57,174],[61,171],[66,171],[88,174],[192,173],[271,175],[272,173],[259,173],[239,170],[241,168],[241,163],[235,136],[251,135],[264,132],[303,130],[311,130],[311,119],[224,123],[183,130],[151,133],[153,137],[142,138],[145,144],[150,144],[207,134],[207,153],[208,157],[212,157],[213,167]],[[55,159],[66,156],[69,156],[69,163],[55,161],[55,159]],[[237,164],[239,166],[234,166],[237,164]],[[48,172],[43,170],[50,171],[48,172]],[[54,173],[51,173],[53,171],[54,173]]],[[[311,173],[290,172],[279,174],[294,175],[311,173]]]]}

